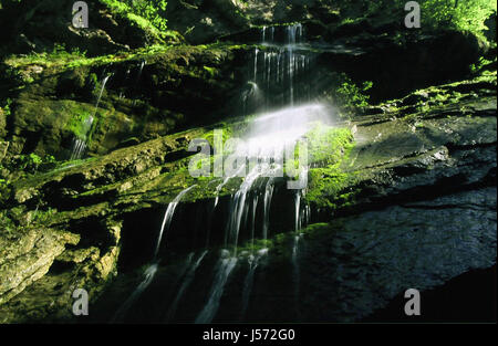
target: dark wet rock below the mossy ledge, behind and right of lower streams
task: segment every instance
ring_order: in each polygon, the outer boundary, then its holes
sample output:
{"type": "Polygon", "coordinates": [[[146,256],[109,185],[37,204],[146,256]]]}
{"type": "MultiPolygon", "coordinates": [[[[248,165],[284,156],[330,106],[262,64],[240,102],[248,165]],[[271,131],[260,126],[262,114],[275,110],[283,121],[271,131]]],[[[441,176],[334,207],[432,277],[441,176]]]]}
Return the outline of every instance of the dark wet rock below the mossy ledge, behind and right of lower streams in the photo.
{"type": "MultiPolygon", "coordinates": [[[[313,224],[301,235],[297,268],[290,256],[293,235],[260,260],[246,313],[242,296],[250,266],[240,254],[214,322],[357,322],[408,289],[424,296],[461,273],[490,268],[496,263],[496,192],[495,187],[481,188],[313,224]]],[[[216,274],[216,251],[207,255],[169,319],[189,263],[185,256],[165,263],[116,322],[194,322],[208,296],[205,283],[216,274]]],[[[113,321],[139,281],[137,273],[118,276],[89,322],[113,321]]],[[[433,302],[432,308],[437,306],[433,302]]]]}

